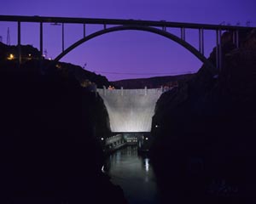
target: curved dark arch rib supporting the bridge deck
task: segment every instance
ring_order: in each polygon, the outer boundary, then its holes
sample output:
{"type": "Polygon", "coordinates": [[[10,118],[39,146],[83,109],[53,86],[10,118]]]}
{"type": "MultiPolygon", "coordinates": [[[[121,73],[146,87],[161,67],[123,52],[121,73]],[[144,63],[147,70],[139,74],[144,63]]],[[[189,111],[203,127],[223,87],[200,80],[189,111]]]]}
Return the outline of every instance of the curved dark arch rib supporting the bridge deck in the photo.
{"type": "Polygon", "coordinates": [[[55,65],[62,57],[64,57],[66,54],[71,52],[74,48],[77,48],[80,44],[89,41],[90,39],[93,39],[95,37],[102,36],[104,34],[107,34],[109,32],[114,31],[148,31],[151,33],[155,33],[157,35],[160,35],[162,37],[166,37],[174,42],[177,42],[183,48],[186,48],[189,50],[190,53],[194,54],[195,57],[201,60],[205,65],[207,65],[208,70],[212,73],[212,75],[217,74],[217,69],[215,65],[212,65],[212,62],[209,61],[203,54],[201,54],[195,47],[190,45],[188,42],[184,41],[183,39],[173,35],[170,32],[160,30],[158,28],[150,27],[150,26],[114,26],[110,28],[103,29],[101,31],[96,31],[92,34],[90,34],[87,37],[83,37],[77,42],[74,42],[70,47],[65,49],[61,54],[59,54],[53,61],[51,65],[55,65]]]}

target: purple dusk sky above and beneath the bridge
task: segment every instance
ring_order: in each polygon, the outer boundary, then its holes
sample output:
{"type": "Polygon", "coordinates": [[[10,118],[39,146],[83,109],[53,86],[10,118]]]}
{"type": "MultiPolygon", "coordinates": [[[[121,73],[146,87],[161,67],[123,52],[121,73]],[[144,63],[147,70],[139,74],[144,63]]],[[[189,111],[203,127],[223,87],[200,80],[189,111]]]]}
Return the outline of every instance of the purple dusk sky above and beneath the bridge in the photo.
{"type": "MultiPolygon", "coordinates": [[[[1,3],[0,14],[40,15],[84,18],[114,18],[134,20],[166,20],[177,22],[225,24],[256,27],[255,0],[12,0],[1,3]]],[[[11,44],[17,43],[15,23],[0,22],[0,36],[7,39],[10,30],[11,44]]],[[[87,26],[87,35],[102,26],[87,26]]],[[[83,36],[83,27],[65,26],[65,48],[83,36]]],[[[175,29],[168,29],[178,34],[175,29]]],[[[198,31],[186,31],[186,40],[198,47],[198,31]]],[[[39,26],[21,24],[21,43],[39,46],[39,26]]],[[[215,45],[213,31],[205,31],[206,55],[215,45]]],[[[61,26],[44,25],[44,49],[48,57],[61,52],[61,26]]],[[[195,72],[201,67],[185,48],[164,37],[143,31],[118,31],[85,42],[61,61],[84,66],[102,74],[110,81],[176,75],[195,72]]]]}

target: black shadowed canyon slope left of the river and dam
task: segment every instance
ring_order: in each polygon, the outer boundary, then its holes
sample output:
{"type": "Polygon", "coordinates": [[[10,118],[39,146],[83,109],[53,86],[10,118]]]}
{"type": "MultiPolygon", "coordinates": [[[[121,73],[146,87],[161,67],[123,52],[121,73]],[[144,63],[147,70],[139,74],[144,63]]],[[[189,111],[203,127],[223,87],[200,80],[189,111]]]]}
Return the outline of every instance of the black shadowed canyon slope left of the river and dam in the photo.
{"type": "Polygon", "coordinates": [[[0,90],[0,203],[126,203],[101,171],[96,127],[108,122],[95,116],[95,93],[59,71],[12,65],[0,90]]]}

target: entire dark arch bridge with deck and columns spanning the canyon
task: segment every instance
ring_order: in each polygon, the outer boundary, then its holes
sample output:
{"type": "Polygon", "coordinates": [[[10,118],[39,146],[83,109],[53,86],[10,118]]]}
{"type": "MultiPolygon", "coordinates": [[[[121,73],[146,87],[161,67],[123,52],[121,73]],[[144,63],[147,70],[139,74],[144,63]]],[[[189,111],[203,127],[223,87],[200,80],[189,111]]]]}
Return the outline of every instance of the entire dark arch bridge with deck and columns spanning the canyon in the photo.
{"type": "Polygon", "coordinates": [[[174,42],[177,42],[183,48],[188,49],[192,54],[200,59],[205,65],[207,65],[212,75],[218,74],[222,66],[222,45],[221,35],[223,31],[232,31],[233,42],[236,47],[239,47],[239,33],[240,31],[247,31],[253,29],[252,27],[245,26],[222,26],[222,25],[207,25],[207,24],[195,24],[195,23],[179,23],[170,22],[165,20],[119,20],[119,19],[90,19],[90,18],[69,18],[69,17],[44,17],[44,16],[17,16],[17,15],[0,15],[0,21],[17,22],[18,33],[18,59],[19,64],[21,62],[21,49],[20,49],[20,35],[21,35],[21,23],[38,23],[39,24],[39,51],[43,59],[44,48],[44,25],[45,24],[61,24],[61,39],[62,39],[62,52],[53,61],[52,65],[55,65],[62,57],[78,47],[80,44],[89,41],[92,38],[102,36],[104,34],[114,31],[148,31],[155,33],[162,37],[166,37],[174,42]],[[65,48],[65,25],[67,24],[79,24],[81,25],[81,39],[77,42],[73,42],[71,46],[65,48]],[[102,30],[86,35],[86,26],[88,25],[102,25],[102,30]],[[174,35],[169,28],[180,29],[180,35],[174,35]],[[195,48],[189,42],[186,41],[186,31],[194,29],[198,31],[198,47],[195,48]],[[207,59],[204,53],[205,41],[204,31],[215,31],[216,37],[216,65],[213,65],[211,61],[207,59]]]}

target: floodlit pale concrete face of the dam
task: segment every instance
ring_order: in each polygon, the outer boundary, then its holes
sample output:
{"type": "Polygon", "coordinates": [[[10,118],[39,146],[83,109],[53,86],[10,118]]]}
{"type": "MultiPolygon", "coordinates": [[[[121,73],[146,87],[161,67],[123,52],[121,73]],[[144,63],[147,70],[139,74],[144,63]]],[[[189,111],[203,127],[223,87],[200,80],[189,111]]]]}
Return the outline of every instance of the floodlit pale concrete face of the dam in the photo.
{"type": "Polygon", "coordinates": [[[100,89],[113,133],[150,132],[154,106],[161,88],[100,89]]]}

